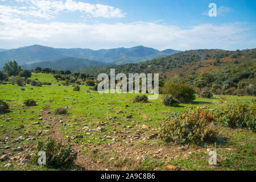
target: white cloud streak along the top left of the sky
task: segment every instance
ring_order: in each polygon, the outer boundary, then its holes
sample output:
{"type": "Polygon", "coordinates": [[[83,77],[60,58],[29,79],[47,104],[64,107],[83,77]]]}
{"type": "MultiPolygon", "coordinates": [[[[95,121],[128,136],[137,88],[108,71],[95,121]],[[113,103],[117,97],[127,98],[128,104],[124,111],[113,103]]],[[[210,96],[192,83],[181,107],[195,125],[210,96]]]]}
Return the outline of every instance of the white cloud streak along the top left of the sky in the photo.
{"type": "MultiPolygon", "coordinates": [[[[0,0],[2,1],[2,0],[0,0]]],[[[94,18],[123,18],[124,13],[118,8],[107,5],[92,5],[90,3],[76,2],[73,0],[15,0],[18,3],[26,3],[27,9],[14,6],[0,7],[0,14],[8,15],[30,15],[40,18],[52,19],[63,11],[79,11],[87,17],[94,18]]]]}

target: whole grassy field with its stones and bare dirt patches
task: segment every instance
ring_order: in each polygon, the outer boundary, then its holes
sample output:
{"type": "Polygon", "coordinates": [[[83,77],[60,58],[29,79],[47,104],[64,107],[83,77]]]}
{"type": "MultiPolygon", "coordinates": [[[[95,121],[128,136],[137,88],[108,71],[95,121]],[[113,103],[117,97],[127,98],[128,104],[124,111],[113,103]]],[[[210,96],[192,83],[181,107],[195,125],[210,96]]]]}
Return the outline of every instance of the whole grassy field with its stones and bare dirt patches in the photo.
{"type": "MultiPolygon", "coordinates": [[[[246,129],[218,126],[220,136],[216,146],[217,166],[208,164],[208,152],[213,144],[188,146],[184,150],[174,143],[147,138],[157,133],[160,122],[171,112],[203,106],[215,109],[233,101],[251,103],[255,97],[196,98],[192,104],[166,107],[161,102],[161,95],[158,100],[141,104],[133,102],[133,97],[137,94],[99,94],[92,90],[88,93],[89,87],[84,85],[80,86],[80,92],[75,92],[72,85],[63,86],[52,75],[33,73],[31,80],[35,78],[41,82],[51,82],[52,85],[0,85],[0,98],[10,104],[11,109],[10,113],[0,115],[1,156],[32,154],[38,140],[58,137],[63,143],[71,143],[79,148],[80,158],[73,170],[79,170],[83,166],[94,170],[167,170],[167,166],[173,166],[172,169],[175,170],[255,170],[256,135],[246,129]],[[21,88],[25,90],[22,91],[21,88]],[[24,100],[29,98],[33,98],[38,105],[23,106],[24,100]],[[67,107],[68,115],[53,115],[57,107],[67,107]],[[41,117],[43,119],[39,120],[41,117]],[[11,119],[8,121],[8,118],[11,119]],[[32,124],[35,122],[39,124],[32,124]],[[105,130],[98,131],[98,127],[104,127],[105,130]],[[42,134],[38,135],[39,131],[42,134]],[[79,134],[82,135],[81,138],[76,137],[79,134]],[[25,140],[11,142],[21,136],[25,140]],[[23,151],[13,151],[17,147],[22,147],[23,151]]],[[[0,162],[0,169],[49,170],[14,161],[0,162]],[[7,163],[11,166],[5,167],[7,163]]]]}

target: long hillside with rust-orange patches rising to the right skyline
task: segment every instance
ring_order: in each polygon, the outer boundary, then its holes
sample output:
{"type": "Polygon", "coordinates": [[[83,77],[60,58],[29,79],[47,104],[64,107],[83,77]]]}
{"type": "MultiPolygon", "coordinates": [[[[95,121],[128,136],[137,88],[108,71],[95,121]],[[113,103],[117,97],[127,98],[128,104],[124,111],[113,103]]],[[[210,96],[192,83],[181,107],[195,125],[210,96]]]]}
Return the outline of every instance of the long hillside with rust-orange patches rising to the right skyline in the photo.
{"type": "Polygon", "coordinates": [[[255,59],[255,49],[243,51],[224,51],[221,49],[197,49],[176,53],[175,55],[160,57],[137,64],[114,65],[107,67],[84,68],[76,72],[98,75],[109,73],[114,68],[118,73],[160,73],[167,77],[174,75],[190,75],[196,72],[211,71],[226,65],[235,65],[234,61],[255,59]]]}

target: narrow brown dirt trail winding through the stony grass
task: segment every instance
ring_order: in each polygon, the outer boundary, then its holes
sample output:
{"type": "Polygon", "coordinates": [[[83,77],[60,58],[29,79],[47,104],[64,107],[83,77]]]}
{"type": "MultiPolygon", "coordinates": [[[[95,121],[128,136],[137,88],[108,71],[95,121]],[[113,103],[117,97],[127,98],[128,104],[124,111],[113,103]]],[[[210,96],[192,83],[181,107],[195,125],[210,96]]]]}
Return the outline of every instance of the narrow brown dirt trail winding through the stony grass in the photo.
{"type": "Polygon", "coordinates": [[[47,114],[48,111],[49,106],[44,109],[43,116],[47,118],[47,121],[49,121],[49,124],[51,125],[51,137],[63,144],[72,145],[73,150],[77,152],[77,160],[75,161],[75,165],[81,168],[82,170],[86,171],[104,171],[104,165],[98,164],[94,159],[91,159],[88,156],[86,156],[82,152],[82,147],[79,144],[69,142],[68,139],[64,137],[64,134],[60,131],[60,122],[55,121],[55,115],[47,114]]]}

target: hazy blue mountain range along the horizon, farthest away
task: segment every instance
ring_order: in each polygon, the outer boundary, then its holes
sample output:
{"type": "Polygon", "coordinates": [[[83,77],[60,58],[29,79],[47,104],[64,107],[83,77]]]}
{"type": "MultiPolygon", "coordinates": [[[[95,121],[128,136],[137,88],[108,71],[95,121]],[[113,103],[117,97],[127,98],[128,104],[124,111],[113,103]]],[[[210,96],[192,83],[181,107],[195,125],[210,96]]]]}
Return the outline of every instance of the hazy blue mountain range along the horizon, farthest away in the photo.
{"type": "Polygon", "coordinates": [[[171,55],[153,48],[137,46],[132,48],[92,49],[52,48],[45,46],[28,46],[0,52],[0,68],[9,60],[16,60],[19,65],[52,61],[64,57],[80,57],[112,64],[138,63],[149,59],[171,55]]]}

